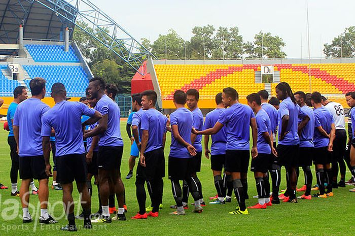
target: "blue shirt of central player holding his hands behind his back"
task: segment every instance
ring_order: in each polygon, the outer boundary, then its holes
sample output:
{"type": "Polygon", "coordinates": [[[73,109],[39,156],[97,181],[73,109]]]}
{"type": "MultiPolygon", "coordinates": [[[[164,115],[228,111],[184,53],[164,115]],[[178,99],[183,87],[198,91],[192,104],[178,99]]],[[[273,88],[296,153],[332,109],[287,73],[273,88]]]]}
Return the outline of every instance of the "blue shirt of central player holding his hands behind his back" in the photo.
{"type": "MultiPolygon", "coordinates": [[[[191,144],[192,113],[186,108],[178,108],[170,115],[170,124],[177,125],[180,136],[191,144]]],[[[170,156],[190,158],[191,155],[184,145],[179,143],[171,134],[170,156]]]]}

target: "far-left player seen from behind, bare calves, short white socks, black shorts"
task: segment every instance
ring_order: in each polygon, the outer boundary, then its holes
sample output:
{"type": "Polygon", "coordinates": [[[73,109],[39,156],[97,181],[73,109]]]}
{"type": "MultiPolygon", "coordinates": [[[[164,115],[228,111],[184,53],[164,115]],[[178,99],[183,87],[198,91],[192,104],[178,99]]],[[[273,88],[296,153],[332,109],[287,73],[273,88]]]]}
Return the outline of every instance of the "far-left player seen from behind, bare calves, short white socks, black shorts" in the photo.
{"type": "Polygon", "coordinates": [[[49,110],[49,106],[41,101],[46,95],[46,81],[43,78],[34,78],[29,82],[32,97],[24,100],[17,106],[13,131],[20,156],[20,198],[23,212],[23,223],[32,221],[28,212],[28,188],[31,179],[37,179],[39,186],[39,200],[41,204],[40,223],[57,223],[48,214],[48,175],[46,162],[43,156],[41,139],[41,118],[49,110]]]}

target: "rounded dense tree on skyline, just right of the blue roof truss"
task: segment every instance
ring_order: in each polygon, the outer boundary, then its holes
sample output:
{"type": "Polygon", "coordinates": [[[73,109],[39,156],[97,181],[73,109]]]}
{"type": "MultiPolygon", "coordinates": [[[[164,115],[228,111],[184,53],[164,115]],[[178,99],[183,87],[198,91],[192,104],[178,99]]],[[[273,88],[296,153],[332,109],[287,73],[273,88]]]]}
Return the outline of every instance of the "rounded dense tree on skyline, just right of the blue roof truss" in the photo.
{"type": "MultiPolygon", "coordinates": [[[[144,42],[148,46],[147,40],[144,42]]],[[[152,45],[152,53],[158,58],[184,58],[184,40],[175,30],[169,29],[167,35],[159,35],[152,45]],[[166,53],[165,53],[166,52],[166,53]]]]}

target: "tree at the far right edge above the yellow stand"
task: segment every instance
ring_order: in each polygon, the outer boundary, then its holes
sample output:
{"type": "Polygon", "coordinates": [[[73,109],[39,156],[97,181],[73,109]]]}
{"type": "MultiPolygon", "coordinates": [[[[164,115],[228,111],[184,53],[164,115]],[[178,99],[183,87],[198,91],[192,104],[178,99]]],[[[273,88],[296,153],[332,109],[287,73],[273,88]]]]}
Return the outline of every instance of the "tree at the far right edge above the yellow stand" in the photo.
{"type": "Polygon", "coordinates": [[[326,57],[353,57],[355,56],[355,26],[345,28],[331,44],[324,44],[326,57]]]}

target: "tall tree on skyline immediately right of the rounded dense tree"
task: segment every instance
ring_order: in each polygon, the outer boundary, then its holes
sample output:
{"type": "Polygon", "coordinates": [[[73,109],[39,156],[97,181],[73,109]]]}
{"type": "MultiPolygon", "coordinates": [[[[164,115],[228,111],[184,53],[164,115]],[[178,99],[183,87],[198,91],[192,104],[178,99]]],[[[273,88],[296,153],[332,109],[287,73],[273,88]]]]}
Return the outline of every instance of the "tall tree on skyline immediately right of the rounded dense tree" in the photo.
{"type": "Polygon", "coordinates": [[[189,46],[189,58],[208,58],[212,56],[212,50],[214,49],[212,37],[215,30],[213,25],[195,26],[192,29],[194,36],[191,37],[190,43],[187,44],[189,46]]]}

